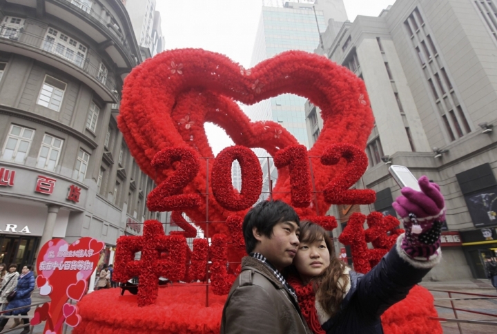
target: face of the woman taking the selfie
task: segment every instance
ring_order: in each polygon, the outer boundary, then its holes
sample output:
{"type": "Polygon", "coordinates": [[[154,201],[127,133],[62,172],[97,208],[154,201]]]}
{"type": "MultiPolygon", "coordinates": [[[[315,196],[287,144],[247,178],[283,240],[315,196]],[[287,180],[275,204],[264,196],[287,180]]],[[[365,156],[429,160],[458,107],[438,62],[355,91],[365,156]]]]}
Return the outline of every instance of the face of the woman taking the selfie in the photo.
{"type": "Polygon", "coordinates": [[[297,255],[293,259],[300,276],[307,279],[320,275],[329,267],[329,262],[329,250],[324,239],[312,243],[300,242],[297,255]]]}

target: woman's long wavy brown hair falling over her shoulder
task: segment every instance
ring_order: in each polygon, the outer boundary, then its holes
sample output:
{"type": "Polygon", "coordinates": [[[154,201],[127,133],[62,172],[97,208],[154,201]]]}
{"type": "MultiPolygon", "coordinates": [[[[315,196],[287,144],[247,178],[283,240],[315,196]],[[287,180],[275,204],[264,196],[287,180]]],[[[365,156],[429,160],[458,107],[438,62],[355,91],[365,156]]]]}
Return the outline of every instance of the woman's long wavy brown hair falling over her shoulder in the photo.
{"type": "Polygon", "coordinates": [[[315,241],[324,240],[330,254],[330,264],[321,275],[313,278],[315,298],[320,302],[324,311],[331,317],[340,310],[340,304],[344,298],[345,289],[349,284],[349,275],[344,273],[347,265],[335,256],[333,242],[320,225],[313,222],[300,222],[300,242],[312,244],[315,241]]]}

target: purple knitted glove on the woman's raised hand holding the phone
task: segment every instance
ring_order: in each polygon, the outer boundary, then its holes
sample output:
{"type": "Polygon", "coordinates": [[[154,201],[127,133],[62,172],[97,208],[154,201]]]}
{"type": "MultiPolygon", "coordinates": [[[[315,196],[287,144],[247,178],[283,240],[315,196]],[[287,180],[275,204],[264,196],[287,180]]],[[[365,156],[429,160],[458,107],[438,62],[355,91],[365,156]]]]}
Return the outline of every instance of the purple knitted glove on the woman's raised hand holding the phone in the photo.
{"type": "Polygon", "coordinates": [[[402,217],[406,230],[402,249],[411,258],[428,260],[440,247],[445,201],[440,187],[429,182],[426,176],[421,176],[418,183],[421,191],[403,188],[403,196],[398,197],[392,206],[402,217]]]}

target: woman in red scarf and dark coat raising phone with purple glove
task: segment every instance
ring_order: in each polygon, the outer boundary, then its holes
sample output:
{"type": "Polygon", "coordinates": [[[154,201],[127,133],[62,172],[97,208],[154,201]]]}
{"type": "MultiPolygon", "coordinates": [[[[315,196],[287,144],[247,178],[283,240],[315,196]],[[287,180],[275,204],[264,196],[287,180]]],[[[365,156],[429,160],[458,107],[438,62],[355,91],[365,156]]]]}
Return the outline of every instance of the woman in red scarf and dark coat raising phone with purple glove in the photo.
{"type": "Polygon", "coordinates": [[[335,257],[322,227],[302,222],[293,260],[296,272],[290,273],[288,281],[313,333],[382,334],[380,315],[404,299],[440,262],[444,199],[438,185],[426,176],[419,185],[422,191],[404,188],[403,196],[393,203],[406,233],[366,275],[351,271],[335,257]]]}

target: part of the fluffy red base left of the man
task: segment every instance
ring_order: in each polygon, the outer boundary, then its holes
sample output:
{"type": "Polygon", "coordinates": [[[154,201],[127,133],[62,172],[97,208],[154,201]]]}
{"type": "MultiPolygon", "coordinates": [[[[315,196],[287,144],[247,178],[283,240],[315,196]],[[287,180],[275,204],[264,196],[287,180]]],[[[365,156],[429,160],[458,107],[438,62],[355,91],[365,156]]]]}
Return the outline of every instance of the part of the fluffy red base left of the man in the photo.
{"type": "Polygon", "coordinates": [[[200,284],[159,288],[157,304],[138,307],[137,296],[121,289],[103,289],[86,295],[79,307],[81,323],[73,334],[220,333],[226,295],[214,295],[200,284]]]}

